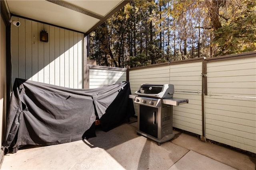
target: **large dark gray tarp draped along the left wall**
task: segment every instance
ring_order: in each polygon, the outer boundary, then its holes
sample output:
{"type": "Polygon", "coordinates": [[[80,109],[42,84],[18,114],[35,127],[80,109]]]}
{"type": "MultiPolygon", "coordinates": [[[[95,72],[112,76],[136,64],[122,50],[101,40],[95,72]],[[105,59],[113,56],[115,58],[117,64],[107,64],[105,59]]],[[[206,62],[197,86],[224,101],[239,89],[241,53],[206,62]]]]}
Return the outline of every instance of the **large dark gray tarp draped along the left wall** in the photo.
{"type": "Polygon", "coordinates": [[[96,115],[104,131],[134,115],[130,84],[71,89],[16,78],[3,147],[55,145],[94,137],[96,115]]]}

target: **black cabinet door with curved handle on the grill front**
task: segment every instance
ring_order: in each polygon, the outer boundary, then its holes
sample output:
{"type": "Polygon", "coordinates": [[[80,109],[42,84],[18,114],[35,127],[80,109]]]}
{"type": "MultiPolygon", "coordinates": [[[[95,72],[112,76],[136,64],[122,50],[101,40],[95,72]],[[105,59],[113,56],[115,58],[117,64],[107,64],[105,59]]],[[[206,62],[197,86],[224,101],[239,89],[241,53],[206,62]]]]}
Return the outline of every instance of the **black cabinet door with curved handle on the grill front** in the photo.
{"type": "Polygon", "coordinates": [[[140,105],[140,131],[158,137],[158,108],[140,105]]]}

